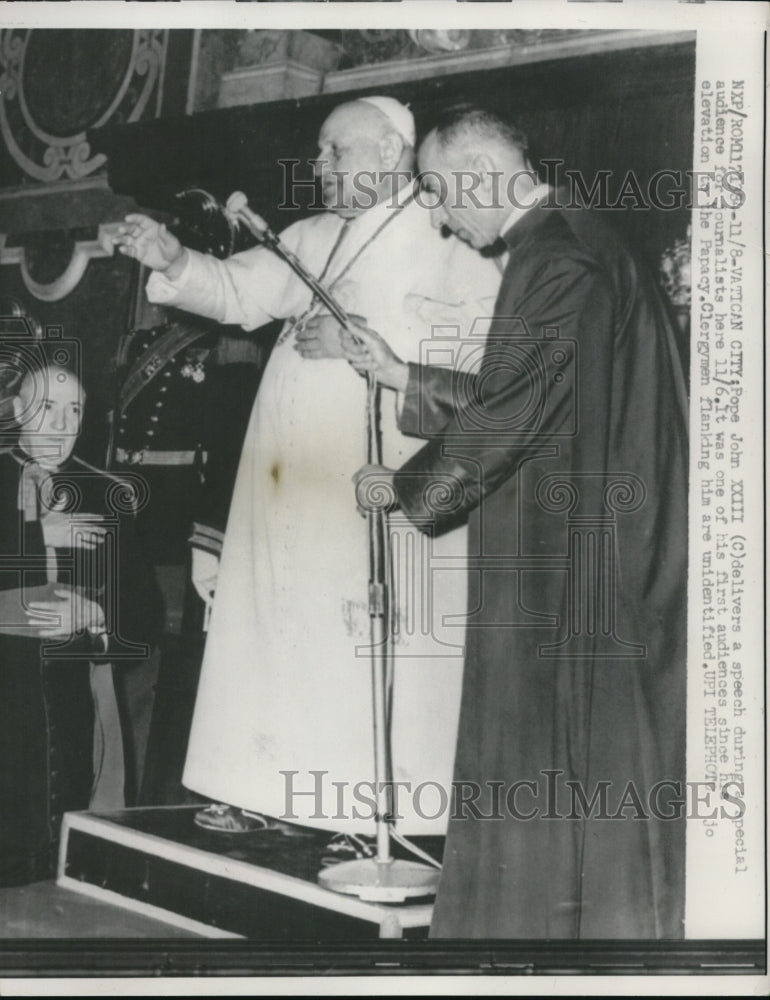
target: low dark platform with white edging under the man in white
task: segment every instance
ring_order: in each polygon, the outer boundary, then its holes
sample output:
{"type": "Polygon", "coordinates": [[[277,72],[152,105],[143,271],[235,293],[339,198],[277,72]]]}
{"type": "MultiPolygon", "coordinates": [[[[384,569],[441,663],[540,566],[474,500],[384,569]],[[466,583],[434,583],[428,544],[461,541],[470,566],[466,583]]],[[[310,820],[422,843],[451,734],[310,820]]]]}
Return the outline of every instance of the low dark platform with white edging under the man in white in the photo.
{"type": "MultiPolygon", "coordinates": [[[[67,813],[58,884],[207,937],[427,937],[429,900],[371,903],[318,885],[328,831],[211,832],[193,822],[199,808],[67,813]]],[[[440,838],[415,841],[440,857],[440,838]]]]}

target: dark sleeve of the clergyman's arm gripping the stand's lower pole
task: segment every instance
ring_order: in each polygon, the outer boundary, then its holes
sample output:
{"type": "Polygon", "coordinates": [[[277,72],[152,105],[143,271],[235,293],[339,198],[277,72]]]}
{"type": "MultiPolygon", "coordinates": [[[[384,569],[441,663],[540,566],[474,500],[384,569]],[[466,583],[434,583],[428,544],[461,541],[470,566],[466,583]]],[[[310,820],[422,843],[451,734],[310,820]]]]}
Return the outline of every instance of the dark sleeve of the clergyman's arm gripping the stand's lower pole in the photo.
{"type": "Polygon", "coordinates": [[[396,473],[402,510],[426,529],[454,527],[515,472],[527,447],[552,435],[569,435],[575,415],[573,394],[581,468],[606,468],[614,305],[605,276],[579,251],[562,254],[527,282],[515,309],[516,316],[508,321],[498,315],[490,331],[473,394],[462,407],[455,407],[443,431],[396,473]],[[541,393],[542,411],[524,427],[517,418],[527,408],[533,375],[520,361],[524,342],[520,320],[529,331],[526,340],[537,345],[534,349],[547,383],[547,391],[541,393]],[[516,336],[511,335],[513,329],[516,336]],[[566,370],[563,363],[554,362],[555,351],[548,342],[540,339],[544,329],[558,330],[555,346],[560,342],[569,349],[574,341],[572,364],[566,370]],[[569,391],[551,391],[563,384],[558,378],[571,380],[569,391]],[[433,502],[437,496],[439,504],[433,502]]]}

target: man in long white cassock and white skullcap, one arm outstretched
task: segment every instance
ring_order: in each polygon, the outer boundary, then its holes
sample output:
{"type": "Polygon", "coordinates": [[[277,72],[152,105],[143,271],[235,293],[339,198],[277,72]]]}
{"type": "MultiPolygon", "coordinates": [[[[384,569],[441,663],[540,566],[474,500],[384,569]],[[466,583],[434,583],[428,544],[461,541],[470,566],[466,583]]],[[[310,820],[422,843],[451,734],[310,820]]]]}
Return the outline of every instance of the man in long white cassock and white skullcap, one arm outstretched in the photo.
{"type": "MultiPolygon", "coordinates": [[[[336,108],[316,165],[328,211],[281,238],[343,308],[392,331],[391,347],[418,362],[434,327],[451,338],[492,314],[500,275],[432,227],[409,175],[414,145],[411,113],[392,98],[336,108]]],[[[373,832],[367,532],[352,484],[365,458],[365,381],[342,359],[338,324],[310,318],[312,293],[270,250],[220,261],[140,215],[117,242],[154,270],[154,302],[247,330],[286,320],[246,433],[184,784],[228,804],[200,817],[206,825],[247,829],[246,810],[373,832]]],[[[453,363],[440,347],[434,363],[453,363]]],[[[420,446],[398,430],[402,403],[383,390],[383,461],[394,468],[420,446]]],[[[396,804],[404,834],[446,828],[462,679],[465,529],[424,537],[392,524],[391,749],[393,778],[408,783],[396,804]]]]}

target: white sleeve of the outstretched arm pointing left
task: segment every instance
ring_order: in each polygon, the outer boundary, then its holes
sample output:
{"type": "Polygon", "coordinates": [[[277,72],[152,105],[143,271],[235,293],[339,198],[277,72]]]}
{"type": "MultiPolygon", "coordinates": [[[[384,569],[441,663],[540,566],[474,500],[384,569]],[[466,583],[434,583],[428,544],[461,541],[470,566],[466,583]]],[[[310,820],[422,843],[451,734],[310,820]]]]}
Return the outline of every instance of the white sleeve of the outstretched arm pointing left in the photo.
{"type": "Polygon", "coordinates": [[[147,282],[150,302],[237,324],[244,330],[291,316],[301,308],[302,292],[291,269],[262,247],[227,260],[188,250],[179,277],[172,281],[162,271],[154,271],[147,282]]]}

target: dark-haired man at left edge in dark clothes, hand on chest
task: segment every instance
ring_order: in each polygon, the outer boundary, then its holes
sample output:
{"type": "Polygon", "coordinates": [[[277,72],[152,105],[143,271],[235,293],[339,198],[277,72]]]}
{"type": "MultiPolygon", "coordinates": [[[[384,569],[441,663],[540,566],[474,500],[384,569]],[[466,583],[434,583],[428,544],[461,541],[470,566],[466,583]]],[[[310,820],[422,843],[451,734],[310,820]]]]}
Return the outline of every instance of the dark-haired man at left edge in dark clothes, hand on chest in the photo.
{"type": "Polygon", "coordinates": [[[130,537],[138,484],[72,456],[83,401],[71,371],[28,368],[13,401],[18,441],[0,452],[6,885],[53,874],[65,811],[134,795],[120,665],[148,654],[158,604],[130,537]]]}

